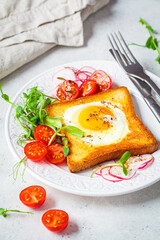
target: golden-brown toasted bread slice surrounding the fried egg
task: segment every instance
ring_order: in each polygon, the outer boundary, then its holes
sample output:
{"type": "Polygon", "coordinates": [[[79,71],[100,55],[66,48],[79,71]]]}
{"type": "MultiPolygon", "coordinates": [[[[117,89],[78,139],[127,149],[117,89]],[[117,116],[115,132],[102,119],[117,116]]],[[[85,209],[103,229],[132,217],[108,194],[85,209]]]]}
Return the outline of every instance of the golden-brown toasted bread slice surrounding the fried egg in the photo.
{"type": "MultiPolygon", "coordinates": [[[[95,95],[49,105],[46,110],[49,116],[55,117],[64,115],[67,109],[73,109],[74,106],[80,105],[82,107],[84,104],[90,103],[96,105],[97,102],[107,102],[112,104],[114,108],[118,107],[119,111],[125,114],[128,131],[123,137],[117,138],[115,141],[109,138],[110,143],[100,142],[100,144],[92,144],[84,141],[83,138],[66,133],[70,149],[67,164],[71,172],[79,172],[106,160],[120,158],[125,151],[130,151],[132,155],[138,155],[157,150],[158,142],[136,115],[130,93],[126,87],[113,88],[95,95]]],[[[101,133],[103,134],[103,131],[101,133]]],[[[107,134],[104,136],[105,138],[107,138],[107,134]]]]}

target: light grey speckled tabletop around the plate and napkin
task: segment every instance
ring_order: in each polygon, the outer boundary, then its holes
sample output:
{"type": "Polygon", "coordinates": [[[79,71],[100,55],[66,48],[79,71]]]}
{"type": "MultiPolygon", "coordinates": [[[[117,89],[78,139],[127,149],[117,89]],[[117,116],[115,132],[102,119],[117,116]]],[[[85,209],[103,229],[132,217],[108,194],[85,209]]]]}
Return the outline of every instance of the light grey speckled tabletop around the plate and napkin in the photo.
{"type": "MultiPolygon", "coordinates": [[[[12,99],[17,90],[37,74],[60,64],[78,60],[112,60],[108,52],[107,33],[120,30],[125,39],[144,44],[148,33],[139,17],[160,30],[159,0],[112,0],[108,6],[84,22],[84,46],[56,47],[23,66],[1,81],[2,88],[12,99]]],[[[136,58],[145,69],[160,76],[160,65],[154,60],[156,52],[132,46],[136,58]]],[[[10,214],[0,216],[0,240],[41,239],[160,239],[160,183],[132,194],[117,197],[82,197],[55,190],[33,178],[27,172],[26,182],[19,176],[16,183],[10,175],[14,159],[7,146],[4,132],[7,103],[0,99],[0,207],[28,210],[19,201],[20,191],[40,184],[47,191],[45,204],[34,215],[10,214]],[[69,213],[68,228],[54,234],[41,223],[41,216],[51,208],[69,213]]]]}

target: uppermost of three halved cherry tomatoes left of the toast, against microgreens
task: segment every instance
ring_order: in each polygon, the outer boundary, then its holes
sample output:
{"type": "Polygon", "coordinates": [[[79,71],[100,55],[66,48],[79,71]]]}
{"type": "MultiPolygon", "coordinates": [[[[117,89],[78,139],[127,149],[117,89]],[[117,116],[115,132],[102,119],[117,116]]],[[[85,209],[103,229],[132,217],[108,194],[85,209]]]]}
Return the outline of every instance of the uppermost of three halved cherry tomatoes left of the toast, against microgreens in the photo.
{"type": "MultiPolygon", "coordinates": [[[[34,130],[34,138],[37,141],[43,142],[47,145],[54,133],[55,131],[51,127],[48,127],[46,125],[38,125],[34,130]]],[[[55,140],[55,138],[53,139],[53,141],[55,140]]]]}

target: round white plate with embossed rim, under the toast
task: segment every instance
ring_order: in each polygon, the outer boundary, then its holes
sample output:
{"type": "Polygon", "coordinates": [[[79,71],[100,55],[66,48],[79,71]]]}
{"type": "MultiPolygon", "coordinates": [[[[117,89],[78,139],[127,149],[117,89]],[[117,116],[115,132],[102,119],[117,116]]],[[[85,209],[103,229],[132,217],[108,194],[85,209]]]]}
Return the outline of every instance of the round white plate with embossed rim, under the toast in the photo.
{"type": "MultiPolygon", "coordinates": [[[[83,61],[67,63],[63,66],[72,66],[77,68],[83,66],[92,66],[96,69],[102,69],[111,76],[113,87],[128,87],[133,99],[136,113],[142,119],[144,124],[152,131],[158,141],[160,141],[160,126],[158,121],[145,104],[138,90],[134,87],[132,82],[124,74],[117,63],[111,61],[83,61]]],[[[51,94],[54,88],[52,75],[55,71],[61,69],[63,66],[49,69],[48,71],[29,81],[17,93],[14,102],[19,102],[22,92],[35,85],[43,87],[44,93],[51,94]]],[[[157,84],[160,83],[160,79],[158,77],[151,73],[148,74],[150,74],[152,79],[157,84]]],[[[20,159],[24,157],[24,153],[23,149],[17,145],[16,141],[17,136],[22,133],[22,130],[17,124],[14,115],[14,107],[10,106],[6,117],[5,130],[10,149],[15,159],[20,161],[20,159]]],[[[70,173],[65,164],[55,166],[48,164],[45,161],[34,163],[30,160],[27,160],[27,170],[42,182],[65,192],[84,196],[116,196],[145,188],[160,179],[160,150],[156,151],[153,156],[155,160],[151,166],[137,173],[136,176],[131,180],[117,183],[108,182],[99,176],[90,178],[92,169],[88,169],[80,173],[70,173]]]]}

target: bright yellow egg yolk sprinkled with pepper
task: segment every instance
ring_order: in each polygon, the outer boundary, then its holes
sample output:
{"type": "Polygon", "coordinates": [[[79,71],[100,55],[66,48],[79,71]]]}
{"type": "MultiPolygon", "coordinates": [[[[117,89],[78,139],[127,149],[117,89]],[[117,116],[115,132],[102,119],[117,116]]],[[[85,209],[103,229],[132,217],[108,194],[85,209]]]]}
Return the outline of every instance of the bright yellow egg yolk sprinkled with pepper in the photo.
{"type": "Polygon", "coordinates": [[[89,106],[80,112],[79,124],[83,128],[93,131],[106,130],[112,125],[105,115],[114,117],[113,112],[108,107],[89,106]]]}

